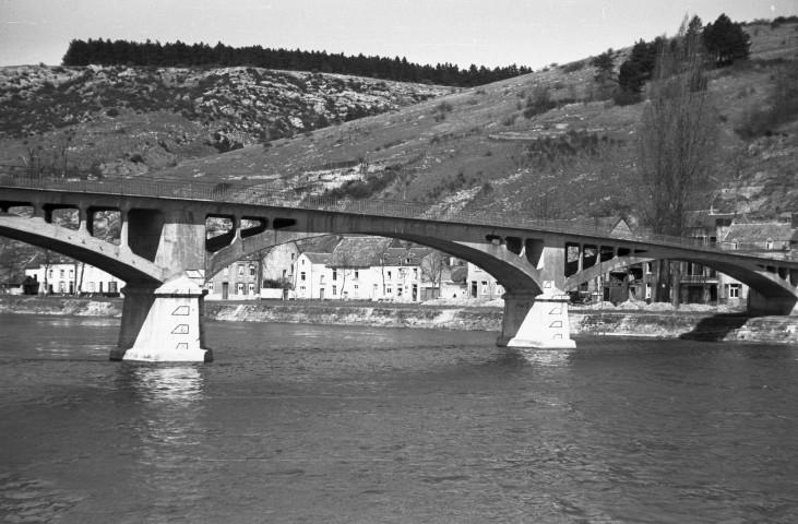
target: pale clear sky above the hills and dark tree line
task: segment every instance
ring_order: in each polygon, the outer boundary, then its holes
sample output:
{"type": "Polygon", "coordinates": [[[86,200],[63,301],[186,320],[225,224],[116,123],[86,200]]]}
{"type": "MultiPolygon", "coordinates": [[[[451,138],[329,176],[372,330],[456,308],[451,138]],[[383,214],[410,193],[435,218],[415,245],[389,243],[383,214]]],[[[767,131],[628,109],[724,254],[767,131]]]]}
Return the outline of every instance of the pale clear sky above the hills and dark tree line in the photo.
{"type": "Polygon", "coordinates": [[[538,70],[798,0],[0,0],[0,66],[61,63],[72,39],[205,43],[538,70]]]}

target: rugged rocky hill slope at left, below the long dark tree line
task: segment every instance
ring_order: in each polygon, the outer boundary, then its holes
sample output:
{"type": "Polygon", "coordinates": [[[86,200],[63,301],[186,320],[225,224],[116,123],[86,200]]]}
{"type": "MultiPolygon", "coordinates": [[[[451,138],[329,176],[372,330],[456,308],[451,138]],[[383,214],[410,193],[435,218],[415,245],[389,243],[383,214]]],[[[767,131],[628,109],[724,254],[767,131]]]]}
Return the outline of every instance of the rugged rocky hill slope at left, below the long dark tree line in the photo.
{"type": "Polygon", "coordinates": [[[448,91],[255,68],[0,68],[0,163],[135,176],[448,91]]]}

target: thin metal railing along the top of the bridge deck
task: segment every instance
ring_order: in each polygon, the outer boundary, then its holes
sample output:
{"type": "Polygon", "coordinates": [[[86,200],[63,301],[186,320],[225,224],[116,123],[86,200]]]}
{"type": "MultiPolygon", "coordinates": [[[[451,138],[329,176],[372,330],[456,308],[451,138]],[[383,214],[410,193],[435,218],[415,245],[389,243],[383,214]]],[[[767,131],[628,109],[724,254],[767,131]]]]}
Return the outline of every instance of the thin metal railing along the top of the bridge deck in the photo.
{"type": "MultiPolygon", "coordinates": [[[[704,245],[700,238],[614,231],[606,223],[597,221],[546,219],[522,213],[502,213],[491,210],[453,210],[444,205],[425,205],[401,201],[336,199],[325,195],[307,195],[296,191],[270,191],[255,186],[230,182],[187,182],[142,177],[131,179],[61,178],[53,174],[44,174],[20,166],[0,166],[0,187],[198,200],[369,216],[456,222],[570,235],[599,236],[662,246],[681,246],[713,252],[728,252],[728,250],[719,249],[716,245],[704,245]]],[[[758,257],[762,257],[762,254],[758,253],[758,257]]]]}

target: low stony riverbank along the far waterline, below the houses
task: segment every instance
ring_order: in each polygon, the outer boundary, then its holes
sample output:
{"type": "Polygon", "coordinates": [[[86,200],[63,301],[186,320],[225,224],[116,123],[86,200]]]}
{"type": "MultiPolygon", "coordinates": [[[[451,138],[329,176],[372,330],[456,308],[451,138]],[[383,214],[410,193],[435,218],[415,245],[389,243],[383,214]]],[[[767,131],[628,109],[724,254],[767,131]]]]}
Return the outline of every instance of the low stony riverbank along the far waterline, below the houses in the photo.
{"type": "MultiPolygon", "coordinates": [[[[501,331],[501,301],[473,306],[334,302],[205,302],[205,317],[223,322],[357,324],[385,327],[501,331]]],[[[0,297],[0,313],[120,317],[120,299],[0,297]]],[[[746,317],[710,308],[576,309],[570,311],[574,336],[636,336],[701,341],[798,344],[798,318],[746,317]]]]}

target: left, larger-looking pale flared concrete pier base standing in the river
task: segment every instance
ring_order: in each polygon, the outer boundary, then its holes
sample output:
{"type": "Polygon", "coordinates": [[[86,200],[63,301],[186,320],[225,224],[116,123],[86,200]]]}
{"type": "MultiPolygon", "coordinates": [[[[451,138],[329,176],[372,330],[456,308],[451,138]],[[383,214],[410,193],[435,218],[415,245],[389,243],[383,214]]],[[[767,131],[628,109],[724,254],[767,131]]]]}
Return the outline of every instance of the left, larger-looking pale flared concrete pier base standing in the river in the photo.
{"type": "Polygon", "coordinates": [[[122,325],[111,360],[213,360],[202,323],[205,291],[187,276],[158,288],[128,285],[122,293],[122,325]]]}

